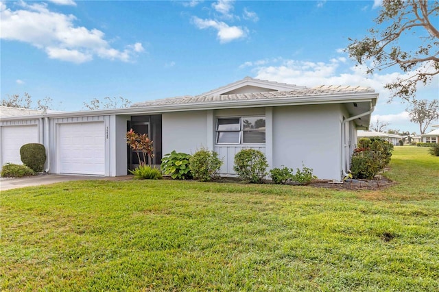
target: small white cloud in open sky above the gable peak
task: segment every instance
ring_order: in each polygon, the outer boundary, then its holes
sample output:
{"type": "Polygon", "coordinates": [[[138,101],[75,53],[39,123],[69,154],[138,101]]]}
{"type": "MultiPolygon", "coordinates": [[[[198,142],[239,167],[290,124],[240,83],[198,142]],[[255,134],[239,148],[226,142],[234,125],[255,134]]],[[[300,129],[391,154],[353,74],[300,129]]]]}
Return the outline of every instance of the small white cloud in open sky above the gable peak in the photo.
{"type": "Polygon", "coordinates": [[[237,27],[237,26],[229,26],[222,21],[215,21],[213,19],[199,19],[194,16],[192,18],[193,23],[199,29],[213,28],[217,30],[217,38],[219,42],[225,43],[230,42],[232,40],[237,40],[239,38],[245,38],[248,34],[247,29],[237,27]]]}

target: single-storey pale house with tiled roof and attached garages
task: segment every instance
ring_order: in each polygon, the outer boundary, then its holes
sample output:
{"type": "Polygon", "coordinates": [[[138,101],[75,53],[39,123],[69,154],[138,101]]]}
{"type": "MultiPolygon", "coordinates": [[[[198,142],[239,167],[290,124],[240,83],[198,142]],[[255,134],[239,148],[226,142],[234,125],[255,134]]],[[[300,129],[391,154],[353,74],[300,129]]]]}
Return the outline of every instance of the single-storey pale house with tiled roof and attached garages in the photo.
{"type": "Polygon", "coordinates": [[[303,164],[319,178],[342,180],[357,129],[367,130],[377,97],[371,88],[306,88],[246,77],[202,95],[130,108],[2,117],[0,164],[19,163],[17,137],[29,136],[45,145],[50,173],[126,175],[137,164],[126,145],[132,128],[154,141],[156,165],[172,150],[192,154],[205,147],[224,160],[222,175],[234,175],[235,154],[254,148],[265,153],[270,169],[303,164]]]}

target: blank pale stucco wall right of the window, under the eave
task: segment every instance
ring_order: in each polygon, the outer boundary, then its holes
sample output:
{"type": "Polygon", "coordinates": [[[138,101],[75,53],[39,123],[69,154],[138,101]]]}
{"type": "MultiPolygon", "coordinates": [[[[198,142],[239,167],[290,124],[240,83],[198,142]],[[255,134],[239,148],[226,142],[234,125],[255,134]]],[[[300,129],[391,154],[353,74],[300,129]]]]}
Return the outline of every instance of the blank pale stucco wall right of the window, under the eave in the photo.
{"type": "Polygon", "coordinates": [[[341,179],[341,121],[338,105],[273,108],[273,165],[302,169],[318,178],[341,179]]]}

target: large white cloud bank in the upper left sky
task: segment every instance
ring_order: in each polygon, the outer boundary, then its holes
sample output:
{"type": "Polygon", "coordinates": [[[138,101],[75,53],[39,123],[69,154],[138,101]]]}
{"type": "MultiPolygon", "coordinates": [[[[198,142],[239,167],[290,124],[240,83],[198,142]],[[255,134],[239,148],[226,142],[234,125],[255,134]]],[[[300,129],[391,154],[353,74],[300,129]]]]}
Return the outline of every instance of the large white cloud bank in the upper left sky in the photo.
{"type": "Polygon", "coordinates": [[[20,2],[21,10],[10,10],[1,5],[1,38],[27,42],[43,49],[49,58],[82,63],[94,56],[129,62],[144,51],[140,42],[123,50],[110,47],[104,32],[74,25],[72,14],[51,12],[45,3],[28,5],[20,2]]]}

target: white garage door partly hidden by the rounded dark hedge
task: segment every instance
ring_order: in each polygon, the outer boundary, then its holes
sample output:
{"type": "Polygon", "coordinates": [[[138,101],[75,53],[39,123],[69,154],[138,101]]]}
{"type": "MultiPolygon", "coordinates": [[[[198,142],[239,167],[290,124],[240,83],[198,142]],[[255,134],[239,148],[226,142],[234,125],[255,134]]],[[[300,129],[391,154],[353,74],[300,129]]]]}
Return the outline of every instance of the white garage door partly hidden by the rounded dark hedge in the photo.
{"type": "Polygon", "coordinates": [[[14,125],[1,127],[1,163],[22,165],[20,148],[27,143],[38,143],[37,125],[14,125]]]}

